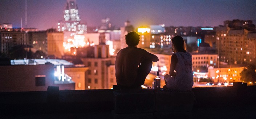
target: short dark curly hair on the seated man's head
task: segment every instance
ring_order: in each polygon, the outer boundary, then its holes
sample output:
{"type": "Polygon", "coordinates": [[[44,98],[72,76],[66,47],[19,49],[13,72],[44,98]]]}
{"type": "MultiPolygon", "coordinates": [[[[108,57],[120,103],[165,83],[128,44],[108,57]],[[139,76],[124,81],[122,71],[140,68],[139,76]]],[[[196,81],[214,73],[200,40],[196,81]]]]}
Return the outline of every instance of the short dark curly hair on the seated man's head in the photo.
{"type": "Polygon", "coordinates": [[[139,39],[140,39],[139,34],[137,34],[134,31],[129,32],[125,36],[126,44],[128,46],[132,46],[132,47],[134,47],[134,46],[139,44],[139,39]]]}

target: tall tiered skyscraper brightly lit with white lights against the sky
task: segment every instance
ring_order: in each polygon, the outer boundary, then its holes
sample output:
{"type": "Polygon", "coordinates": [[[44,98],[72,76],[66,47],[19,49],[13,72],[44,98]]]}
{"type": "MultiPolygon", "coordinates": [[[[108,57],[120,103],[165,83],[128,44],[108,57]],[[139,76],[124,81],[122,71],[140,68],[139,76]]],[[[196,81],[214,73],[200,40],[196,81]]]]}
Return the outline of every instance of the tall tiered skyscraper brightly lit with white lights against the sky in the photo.
{"type": "Polygon", "coordinates": [[[80,22],[81,19],[76,0],[67,0],[64,10],[64,19],[58,23],[58,31],[70,32],[70,37],[75,34],[84,34],[86,33],[86,25],[80,22]]]}

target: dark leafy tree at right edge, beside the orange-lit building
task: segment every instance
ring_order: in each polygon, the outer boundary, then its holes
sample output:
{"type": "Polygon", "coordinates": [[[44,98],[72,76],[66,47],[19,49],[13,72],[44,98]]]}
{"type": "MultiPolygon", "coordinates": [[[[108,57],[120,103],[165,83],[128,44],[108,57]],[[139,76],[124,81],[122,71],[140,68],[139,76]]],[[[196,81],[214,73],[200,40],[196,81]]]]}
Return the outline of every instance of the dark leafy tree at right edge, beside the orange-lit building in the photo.
{"type": "Polygon", "coordinates": [[[245,82],[255,82],[256,81],[256,65],[248,65],[240,73],[241,79],[245,82]]]}

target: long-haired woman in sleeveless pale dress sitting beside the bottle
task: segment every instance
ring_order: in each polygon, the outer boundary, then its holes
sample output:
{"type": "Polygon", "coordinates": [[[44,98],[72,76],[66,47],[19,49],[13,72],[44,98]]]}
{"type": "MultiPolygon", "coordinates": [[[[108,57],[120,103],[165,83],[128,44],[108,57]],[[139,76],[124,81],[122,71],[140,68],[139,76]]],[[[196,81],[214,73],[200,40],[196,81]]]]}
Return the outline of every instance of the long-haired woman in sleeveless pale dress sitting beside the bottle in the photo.
{"type": "Polygon", "coordinates": [[[184,40],[181,36],[171,39],[172,50],[169,74],[164,75],[167,89],[188,91],[194,84],[192,71],[192,56],[185,50],[184,40]]]}

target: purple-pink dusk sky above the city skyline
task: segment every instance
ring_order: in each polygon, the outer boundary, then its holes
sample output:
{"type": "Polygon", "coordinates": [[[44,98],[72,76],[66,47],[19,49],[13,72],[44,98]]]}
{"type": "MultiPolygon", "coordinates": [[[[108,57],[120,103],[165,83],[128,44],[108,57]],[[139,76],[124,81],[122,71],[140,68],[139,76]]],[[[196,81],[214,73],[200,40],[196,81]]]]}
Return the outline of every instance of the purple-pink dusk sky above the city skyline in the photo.
{"type": "MultiPolygon", "coordinates": [[[[110,18],[113,26],[129,20],[135,27],[218,26],[223,21],[253,20],[256,0],[76,0],[82,23],[100,26],[110,18]]],[[[66,0],[27,0],[27,27],[46,30],[63,19],[66,0]]],[[[0,0],[0,23],[25,27],[25,0],[0,0]]]]}

